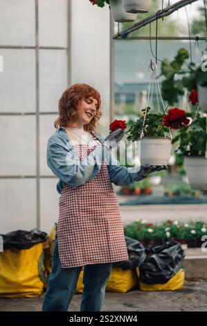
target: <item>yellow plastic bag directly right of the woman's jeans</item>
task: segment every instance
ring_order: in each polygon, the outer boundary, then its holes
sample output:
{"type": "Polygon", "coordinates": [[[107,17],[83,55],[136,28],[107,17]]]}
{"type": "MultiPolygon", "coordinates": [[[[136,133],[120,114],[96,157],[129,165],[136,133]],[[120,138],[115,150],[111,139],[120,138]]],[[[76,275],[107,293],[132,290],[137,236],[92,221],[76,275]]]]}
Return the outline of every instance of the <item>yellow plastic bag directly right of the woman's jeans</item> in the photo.
{"type": "Polygon", "coordinates": [[[111,275],[107,282],[106,291],[126,293],[137,285],[136,273],[131,269],[123,269],[121,267],[112,267],[111,275]]]}

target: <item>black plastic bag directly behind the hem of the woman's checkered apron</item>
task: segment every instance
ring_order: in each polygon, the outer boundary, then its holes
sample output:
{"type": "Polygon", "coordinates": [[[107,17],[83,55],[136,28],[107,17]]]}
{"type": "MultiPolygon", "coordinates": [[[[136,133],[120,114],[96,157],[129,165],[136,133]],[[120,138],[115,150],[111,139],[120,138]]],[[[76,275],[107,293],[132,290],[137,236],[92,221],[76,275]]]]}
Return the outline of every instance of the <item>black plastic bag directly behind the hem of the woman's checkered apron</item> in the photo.
{"type": "Polygon", "coordinates": [[[113,266],[122,267],[123,269],[134,269],[136,266],[140,266],[145,260],[145,247],[139,241],[129,237],[125,237],[125,241],[129,259],[123,261],[115,261],[113,266]]]}

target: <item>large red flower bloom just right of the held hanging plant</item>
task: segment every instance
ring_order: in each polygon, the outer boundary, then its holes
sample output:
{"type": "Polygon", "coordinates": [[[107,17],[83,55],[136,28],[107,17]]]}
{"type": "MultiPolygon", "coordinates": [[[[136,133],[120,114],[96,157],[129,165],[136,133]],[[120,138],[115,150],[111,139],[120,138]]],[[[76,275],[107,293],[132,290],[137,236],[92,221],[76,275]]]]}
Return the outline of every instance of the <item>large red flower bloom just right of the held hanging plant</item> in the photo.
{"type": "Polygon", "coordinates": [[[178,108],[170,109],[163,117],[163,125],[172,129],[181,129],[189,123],[190,119],[186,118],[186,111],[178,108]]]}

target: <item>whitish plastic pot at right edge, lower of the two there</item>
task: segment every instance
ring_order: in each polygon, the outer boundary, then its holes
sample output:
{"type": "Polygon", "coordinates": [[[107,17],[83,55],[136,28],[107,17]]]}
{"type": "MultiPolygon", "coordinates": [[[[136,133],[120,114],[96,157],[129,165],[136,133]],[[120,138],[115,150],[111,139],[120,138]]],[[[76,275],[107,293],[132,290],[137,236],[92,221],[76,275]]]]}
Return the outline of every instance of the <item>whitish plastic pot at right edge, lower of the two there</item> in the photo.
{"type": "Polygon", "coordinates": [[[190,187],[207,190],[207,159],[204,156],[185,156],[184,162],[190,187]]]}

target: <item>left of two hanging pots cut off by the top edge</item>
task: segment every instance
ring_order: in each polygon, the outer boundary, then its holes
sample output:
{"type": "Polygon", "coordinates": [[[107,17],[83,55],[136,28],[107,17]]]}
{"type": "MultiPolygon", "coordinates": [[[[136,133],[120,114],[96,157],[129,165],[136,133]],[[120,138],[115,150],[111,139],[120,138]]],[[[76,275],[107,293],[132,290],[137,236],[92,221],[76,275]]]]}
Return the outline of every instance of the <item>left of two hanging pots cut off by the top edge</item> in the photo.
{"type": "Polygon", "coordinates": [[[125,11],[123,0],[109,0],[111,15],[115,22],[134,22],[136,14],[125,11]]]}

